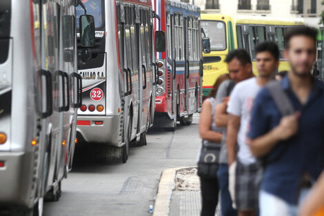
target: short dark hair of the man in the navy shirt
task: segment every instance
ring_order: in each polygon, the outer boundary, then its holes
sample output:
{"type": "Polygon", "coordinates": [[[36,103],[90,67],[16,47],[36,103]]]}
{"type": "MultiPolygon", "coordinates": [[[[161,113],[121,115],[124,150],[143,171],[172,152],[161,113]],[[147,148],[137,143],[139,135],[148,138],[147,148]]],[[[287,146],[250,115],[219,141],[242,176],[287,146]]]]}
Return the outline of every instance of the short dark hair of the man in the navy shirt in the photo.
{"type": "Polygon", "coordinates": [[[310,27],[310,26],[296,26],[292,27],[289,30],[287,30],[287,33],[285,34],[285,48],[289,48],[289,42],[292,37],[295,36],[306,36],[310,37],[314,40],[316,43],[318,35],[318,30],[316,28],[310,27]]]}

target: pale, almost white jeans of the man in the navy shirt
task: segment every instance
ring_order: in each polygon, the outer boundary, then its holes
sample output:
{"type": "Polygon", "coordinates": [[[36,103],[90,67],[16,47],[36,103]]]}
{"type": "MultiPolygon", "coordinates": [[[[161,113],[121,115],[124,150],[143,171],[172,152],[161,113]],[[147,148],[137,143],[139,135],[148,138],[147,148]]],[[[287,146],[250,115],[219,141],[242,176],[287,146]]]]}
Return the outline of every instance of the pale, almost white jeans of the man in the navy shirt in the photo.
{"type": "MultiPolygon", "coordinates": [[[[306,197],[309,189],[301,190],[299,202],[301,203],[306,197]]],[[[259,208],[261,216],[296,216],[298,215],[298,206],[289,204],[280,197],[260,190],[259,208]]]]}

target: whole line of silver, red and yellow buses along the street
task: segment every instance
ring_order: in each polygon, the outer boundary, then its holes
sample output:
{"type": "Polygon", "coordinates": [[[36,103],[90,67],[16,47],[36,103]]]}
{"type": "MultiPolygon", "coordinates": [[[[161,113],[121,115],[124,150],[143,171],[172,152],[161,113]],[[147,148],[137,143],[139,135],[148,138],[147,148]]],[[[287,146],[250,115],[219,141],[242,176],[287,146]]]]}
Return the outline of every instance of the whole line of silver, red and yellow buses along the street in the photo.
{"type": "Polygon", "coordinates": [[[76,145],[125,163],[152,126],[192,124],[230,50],[283,50],[303,24],[170,0],[1,0],[0,14],[0,214],[29,216],[61,196],[76,145]]]}

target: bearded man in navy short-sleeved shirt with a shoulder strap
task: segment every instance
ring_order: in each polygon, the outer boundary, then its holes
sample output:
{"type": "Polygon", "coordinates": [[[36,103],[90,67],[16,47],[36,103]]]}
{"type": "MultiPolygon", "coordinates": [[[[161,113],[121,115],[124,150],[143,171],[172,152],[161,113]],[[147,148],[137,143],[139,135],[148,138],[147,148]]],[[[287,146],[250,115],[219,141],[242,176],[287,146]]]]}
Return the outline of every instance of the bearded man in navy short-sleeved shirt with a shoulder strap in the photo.
{"type": "Polygon", "coordinates": [[[259,195],[261,216],[294,216],[300,199],[324,168],[324,84],[312,77],[317,30],[307,26],[285,35],[288,75],[279,83],[290,101],[291,115],[282,114],[269,88],[254,100],[250,149],[263,158],[259,195]]]}

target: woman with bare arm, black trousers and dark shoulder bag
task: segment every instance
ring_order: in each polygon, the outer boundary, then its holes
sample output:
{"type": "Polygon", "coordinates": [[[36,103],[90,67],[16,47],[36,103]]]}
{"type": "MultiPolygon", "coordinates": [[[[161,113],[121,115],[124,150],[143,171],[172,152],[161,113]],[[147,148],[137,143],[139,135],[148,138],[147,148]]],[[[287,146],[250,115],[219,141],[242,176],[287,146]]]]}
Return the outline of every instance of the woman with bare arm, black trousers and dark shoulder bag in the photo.
{"type": "MultiPolygon", "coordinates": [[[[223,128],[218,128],[212,121],[215,115],[216,108],[216,100],[215,95],[216,92],[221,85],[221,83],[227,79],[230,79],[229,75],[221,75],[216,80],[212,90],[210,90],[209,97],[203,101],[203,106],[201,109],[201,115],[199,119],[199,135],[201,139],[203,139],[203,146],[201,146],[201,151],[199,153],[199,162],[203,161],[201,159],[201,155],[203,155],[202,151],[208,146],[211,147],[219,147],[221,148],[221,139],[223,137],[223,128]]],[[[216,157],[219,155],[219,150],[216,151],[216,157]]],[[[215,157],[215,159],[216,159],[215,157]]],[[[202,166],[218,166],[218,161],[216,164],[203,164],[202,166]]],[[[201,181],[201,197],[202,197],[202,209],[201,216],[214,216],[216,206],[219,200],[219,186],[218,180],[216,176],[217,169],[214,170],[214,174],[210,175],[200,175],[203,173],[200,170],[201,166],[198,166],[198,174],[201,181]]],[[[204,168],[204,167],[203,167],[204,168]]],[[[208,170],[209,168],[207,168],[208,170]]],[[[205,173],[204,173],[205,174],[205,173]]]]}

